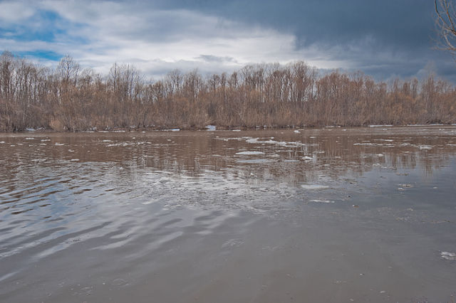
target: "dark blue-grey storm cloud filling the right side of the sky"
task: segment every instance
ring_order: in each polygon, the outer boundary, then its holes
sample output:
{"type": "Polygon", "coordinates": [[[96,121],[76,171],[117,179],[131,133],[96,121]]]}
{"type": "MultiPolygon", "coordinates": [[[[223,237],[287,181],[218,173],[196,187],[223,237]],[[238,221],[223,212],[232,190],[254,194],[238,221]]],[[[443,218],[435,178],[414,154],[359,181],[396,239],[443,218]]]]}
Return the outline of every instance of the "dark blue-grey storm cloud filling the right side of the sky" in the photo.
{"type": "Polygon", "coordinates": [[[156,5],[291,32],[297,49],[332,49],[333,60],[350,60],[354,69],[375,78],[411,77],[432,62],[437,73],[456,80],[450,56],[434,48],[434,1],[179,0],[156,5]]]}

